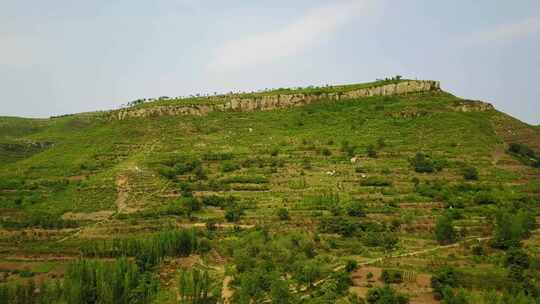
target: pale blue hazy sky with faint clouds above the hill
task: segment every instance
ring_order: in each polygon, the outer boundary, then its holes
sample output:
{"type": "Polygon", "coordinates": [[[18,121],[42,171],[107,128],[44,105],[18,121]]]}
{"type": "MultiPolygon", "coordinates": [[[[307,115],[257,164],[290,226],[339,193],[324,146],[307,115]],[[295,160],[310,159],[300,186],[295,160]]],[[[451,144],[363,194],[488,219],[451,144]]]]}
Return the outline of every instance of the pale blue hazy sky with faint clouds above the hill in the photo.
{"type": "Polygon", "coordinates": [[[0,116],[393,75],[540,124],[540,1],[0,0],[0,116]]]}

